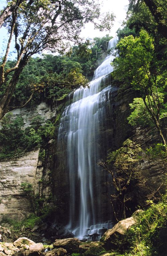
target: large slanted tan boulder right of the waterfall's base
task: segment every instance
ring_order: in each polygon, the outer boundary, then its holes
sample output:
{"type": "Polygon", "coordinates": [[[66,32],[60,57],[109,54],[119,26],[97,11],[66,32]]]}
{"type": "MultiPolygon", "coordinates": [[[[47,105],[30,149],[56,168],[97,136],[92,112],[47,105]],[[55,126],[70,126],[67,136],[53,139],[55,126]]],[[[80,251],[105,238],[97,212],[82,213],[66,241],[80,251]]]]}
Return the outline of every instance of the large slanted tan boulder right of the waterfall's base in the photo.
{"type": "Polygon", "coordinates": [[[118,247],[116,240],[121,240],[125,232],[137,223],[138,213],[141,211],[142,210],[136,210],[130,218],[119,221],[112,229],[104,233],[101,241],[103,241],[105,249],[116,249],[118,247]]]}

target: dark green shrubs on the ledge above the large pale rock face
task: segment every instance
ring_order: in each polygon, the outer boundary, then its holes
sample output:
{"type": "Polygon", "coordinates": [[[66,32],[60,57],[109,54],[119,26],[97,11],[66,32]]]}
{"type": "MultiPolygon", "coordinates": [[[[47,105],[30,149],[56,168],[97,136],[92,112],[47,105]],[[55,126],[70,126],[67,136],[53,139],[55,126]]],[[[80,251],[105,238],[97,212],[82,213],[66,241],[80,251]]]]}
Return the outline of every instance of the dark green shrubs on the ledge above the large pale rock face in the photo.
{"type": "Polygon", "coordinates": [[[22,117],[17,116],[14,120],[11,120],[11,117],[12,114],[8,113],[1,120],[0,159],[17,157],[33,148],[42,147],[43,153],[40,154],[44,160],[44,147],[54,135],[55,127],[52,122],[44,122],[44,119],[38,115],[33,118],[32,125],[24,130],[22,117]]]}

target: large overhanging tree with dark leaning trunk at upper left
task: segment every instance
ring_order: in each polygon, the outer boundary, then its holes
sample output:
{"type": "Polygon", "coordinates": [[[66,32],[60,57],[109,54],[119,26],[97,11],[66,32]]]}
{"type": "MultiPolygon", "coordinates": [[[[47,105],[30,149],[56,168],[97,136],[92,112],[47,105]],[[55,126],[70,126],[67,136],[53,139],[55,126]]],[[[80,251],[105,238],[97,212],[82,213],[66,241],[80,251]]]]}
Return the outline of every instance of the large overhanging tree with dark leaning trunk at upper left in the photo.
{"type": "Polygon", "coordinates": [[[10,102],[17,81],[32,55],[44,49],[64,51],[67,41],[80,41],[81,27],[89,21],[101,30],[110,29],[114,15],[108,13],[102,19],[100,6],[94,0],[13,0],[1,13],[0,20],[9,33],[0,66],[0,88],[3,91],[0,99],[1,119],[11,110],[10,102]],[[6,68],[12,38],[15,40],[17,60],[12,68],[6,68]]]}

